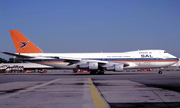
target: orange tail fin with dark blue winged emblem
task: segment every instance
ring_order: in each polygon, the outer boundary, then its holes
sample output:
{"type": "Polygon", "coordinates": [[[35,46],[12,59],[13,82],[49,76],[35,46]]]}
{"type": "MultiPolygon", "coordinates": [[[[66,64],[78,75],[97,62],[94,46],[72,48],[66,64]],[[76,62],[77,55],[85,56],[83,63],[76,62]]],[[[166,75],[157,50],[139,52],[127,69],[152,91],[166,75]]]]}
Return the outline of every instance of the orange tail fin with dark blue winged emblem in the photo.
{"type": "Polygon", "coordinates": [[[18,30],[9,30],[17,53],[43,53],[36,45],[18,30]]]}

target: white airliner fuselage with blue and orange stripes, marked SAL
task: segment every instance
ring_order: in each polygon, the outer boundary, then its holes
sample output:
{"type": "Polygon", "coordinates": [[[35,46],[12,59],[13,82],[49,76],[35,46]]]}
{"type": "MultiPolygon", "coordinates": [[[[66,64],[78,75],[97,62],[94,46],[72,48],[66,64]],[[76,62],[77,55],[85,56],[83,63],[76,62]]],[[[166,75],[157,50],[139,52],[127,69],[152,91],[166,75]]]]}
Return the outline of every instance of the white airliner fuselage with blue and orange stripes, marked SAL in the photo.
{"type": "Polygon", "coordinates": [[[61,58],[129,64],[124,69],[161,68],[179,61],[177,57],[165,50],[139,50],[123,53],[21,53],[21,55],[35,57],[30,62],[63,69],[76,69],[77,64],[69,65],[69,62],[61,58]],[[49,57],[59,57],[60,59],[49,57]]]}

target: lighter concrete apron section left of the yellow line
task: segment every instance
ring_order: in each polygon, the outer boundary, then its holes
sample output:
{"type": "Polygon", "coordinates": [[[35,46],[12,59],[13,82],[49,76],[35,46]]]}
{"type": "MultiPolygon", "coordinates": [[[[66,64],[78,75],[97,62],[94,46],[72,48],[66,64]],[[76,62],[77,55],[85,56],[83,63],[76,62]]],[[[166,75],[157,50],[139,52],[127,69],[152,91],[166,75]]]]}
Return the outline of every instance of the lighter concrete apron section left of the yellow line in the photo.
{"type": "Polygon", "coordinates": [[[1,108],[95,108],[87,78],[4,83],[0,91],[1,108]]]}

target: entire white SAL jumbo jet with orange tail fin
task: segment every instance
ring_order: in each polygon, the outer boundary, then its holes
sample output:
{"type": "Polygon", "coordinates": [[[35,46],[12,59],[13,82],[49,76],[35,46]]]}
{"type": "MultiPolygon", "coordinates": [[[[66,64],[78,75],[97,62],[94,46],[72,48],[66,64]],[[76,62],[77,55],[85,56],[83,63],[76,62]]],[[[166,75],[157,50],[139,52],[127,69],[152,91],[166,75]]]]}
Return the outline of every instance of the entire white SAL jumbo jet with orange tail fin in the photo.
{"type": "MultiPolygon", "coordinates": [[[[138,50],[123,53],[43,53],[18,30],[9,30],[17,53],[2,52],[17,59],[60,69],[84,69],[90,74],[124,69],[149,69],[170,66],[179,59],[165,50],[138,50]]],[[[162,74],[161,69],[159,74],[162,74]]]]}

